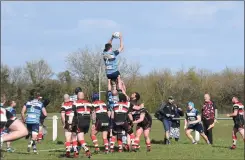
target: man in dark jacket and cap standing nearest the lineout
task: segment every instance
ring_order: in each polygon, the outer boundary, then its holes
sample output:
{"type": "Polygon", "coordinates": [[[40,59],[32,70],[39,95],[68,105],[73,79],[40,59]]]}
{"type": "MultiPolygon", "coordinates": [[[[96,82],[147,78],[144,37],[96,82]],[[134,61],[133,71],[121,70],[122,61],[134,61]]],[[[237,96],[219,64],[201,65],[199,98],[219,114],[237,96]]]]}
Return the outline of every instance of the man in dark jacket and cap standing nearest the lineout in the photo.
{"type": "Polygon", "coordinates": [[[160,108],[159,113],[162,117],[162,122],[165,130],[164,144],[170,144],[170,128],[172,126],[173,117],[175,115],[176,105],[174,104],[174,98],[170,96],[168,102],[160,108]]]}

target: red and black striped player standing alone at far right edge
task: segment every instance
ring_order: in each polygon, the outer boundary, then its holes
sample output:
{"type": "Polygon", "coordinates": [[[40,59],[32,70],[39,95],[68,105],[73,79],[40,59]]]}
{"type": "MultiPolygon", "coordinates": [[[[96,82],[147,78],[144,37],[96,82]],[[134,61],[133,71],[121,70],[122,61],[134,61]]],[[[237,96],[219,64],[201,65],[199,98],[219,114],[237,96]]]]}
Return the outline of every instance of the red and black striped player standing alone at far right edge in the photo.
{"type": "Polygon", "coordinates": [[[244,106],[239,101],[237,96],[233,96],[232,98],[233,103],[233,113],[227,114],[227,117],[232,117],[234,121],[234,127],[232,130],[232,140],[233,144],[230,149],[236,149],[236,142],[237,142],[237,132],[239,132],[245,142],[244,137],[244,106]]]}

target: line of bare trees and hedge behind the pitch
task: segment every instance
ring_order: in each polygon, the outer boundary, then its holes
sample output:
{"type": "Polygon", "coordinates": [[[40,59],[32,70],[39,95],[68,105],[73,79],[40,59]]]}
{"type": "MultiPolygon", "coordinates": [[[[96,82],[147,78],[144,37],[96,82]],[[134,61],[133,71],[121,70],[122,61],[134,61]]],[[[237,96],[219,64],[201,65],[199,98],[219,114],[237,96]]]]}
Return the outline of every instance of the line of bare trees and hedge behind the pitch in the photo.
{"type": "MultiPolygon", "coordinates": [[[[204,93],[210,93],[219,112],[231,111],[231,98],[239,95],[244,100],[244,70],[224,68],[220,72],[189,68],[172,72],[171,69],[152,70],[140,74],[140,63],[129,63],[120,56],[119,71],[126,84],[127,94],[139,92],[141,101],[150,112],[173,96],[177,105],[185,109],[188,101],[196,108],[202,106],[204,93]]],[[[1,94],[7,99],[16,100],[20,111],[33,92],[40,92],[43,98],[50,99],[48,112],[58,112],[65,93],[73,94],[80,86],[87,99],[93,92],[107,90],[104,62],[99,49],[79,49],[66,57],[67,70],[54,73],[44,59],[26,62],[23,67],[10,68],[1,63],[1,94]]],[[[106,100],[106,93],[101,93],[106,100]]]]}

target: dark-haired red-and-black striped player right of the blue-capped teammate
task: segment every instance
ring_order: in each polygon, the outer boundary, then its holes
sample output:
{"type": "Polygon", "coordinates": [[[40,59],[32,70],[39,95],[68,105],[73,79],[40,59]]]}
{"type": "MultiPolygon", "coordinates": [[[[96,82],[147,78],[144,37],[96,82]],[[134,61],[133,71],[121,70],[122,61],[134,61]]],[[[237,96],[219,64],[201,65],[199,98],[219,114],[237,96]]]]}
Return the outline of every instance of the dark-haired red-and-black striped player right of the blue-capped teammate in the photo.
{"type": "MultiPolygon", "coordinates": [[[[113,120],[113,136],[110,142],[110,151],[114,152],[114,145],[116,141],[116,135],[121,133],[122,130],[126,131],[129,134],[131,142],[132,142],[132,149],[135,150],[136,146],[134,143],[135,135],[133,133],[133,128],[128,123],[128,114],[130,109],[130,102],[127,101],[127,97],[124,94],[119,95],[119,102],[117,102],[113,108],[112,112],[112,120],[113,120]]],[[[119,152],[123,150],[122,146],[122,139],[118,139],[118,147],[119,152]]]]}

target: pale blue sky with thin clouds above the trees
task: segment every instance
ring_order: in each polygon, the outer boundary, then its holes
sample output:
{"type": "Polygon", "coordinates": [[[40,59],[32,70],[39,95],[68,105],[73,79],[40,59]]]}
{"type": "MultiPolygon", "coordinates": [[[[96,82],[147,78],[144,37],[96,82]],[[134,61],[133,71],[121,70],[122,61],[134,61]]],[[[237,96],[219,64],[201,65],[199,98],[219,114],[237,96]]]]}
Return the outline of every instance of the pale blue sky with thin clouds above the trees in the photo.
{"type": "MultiPolygon", "coordinates": [[[[141,73],[244,67],[244,2],[2,2],[1,61],[46,59],[54,72],[84,46],[124,35],[120,55],[141,73]]],[[[115,42],[118,44],[118,41],[115,42]]]]}

